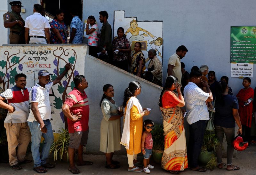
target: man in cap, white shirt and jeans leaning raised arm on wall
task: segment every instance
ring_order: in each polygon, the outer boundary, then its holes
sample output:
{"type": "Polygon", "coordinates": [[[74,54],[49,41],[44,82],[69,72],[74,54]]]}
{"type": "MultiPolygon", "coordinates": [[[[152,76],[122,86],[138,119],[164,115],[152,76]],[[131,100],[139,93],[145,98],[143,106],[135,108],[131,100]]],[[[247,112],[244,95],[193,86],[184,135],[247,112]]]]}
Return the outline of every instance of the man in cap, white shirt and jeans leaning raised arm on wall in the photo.
{"type": "Polygon", "coordinates": [[[47,172],[46,168],[54,168],[51,163],[46,163],[49,156],[50,148],[53,143],[52,124],[50,119],[51,107],[49,100],[50,88],[60,82],[64,75],[71,68],[71,64],[67,63],[65,70],[57,76],[55,80],[50,82],[50,75],[47,70],[40,70],[38,72],[38,80],[34,87],[32,87],[29,97],[31,102],[31,110],[28,116],[28,126],[30,128],[31,136],[31,152],[34,159],[34,171],[38,173],[47,172]],[[39,147],[41,136],[44,138],[43,151],[40,156],[39,147]]]}

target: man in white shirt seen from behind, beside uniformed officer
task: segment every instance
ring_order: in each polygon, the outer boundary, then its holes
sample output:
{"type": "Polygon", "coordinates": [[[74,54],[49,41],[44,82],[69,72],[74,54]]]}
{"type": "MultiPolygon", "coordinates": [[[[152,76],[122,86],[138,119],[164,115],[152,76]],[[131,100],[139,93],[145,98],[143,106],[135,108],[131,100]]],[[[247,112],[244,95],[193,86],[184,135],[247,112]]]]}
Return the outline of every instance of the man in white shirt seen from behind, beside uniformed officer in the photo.
{"type": "Polygon", "coordinates": [[[43,7],[40,4],[35,4],[33,15],[30,15],[25,20],[25,40],[26,44],[50,44],[50,24],[49,21],[41,15],[43,7]],[[28,32],[30,40],[28,39],[28,32]],[[47,40],[46,40],[47,39],[47,40]]]}

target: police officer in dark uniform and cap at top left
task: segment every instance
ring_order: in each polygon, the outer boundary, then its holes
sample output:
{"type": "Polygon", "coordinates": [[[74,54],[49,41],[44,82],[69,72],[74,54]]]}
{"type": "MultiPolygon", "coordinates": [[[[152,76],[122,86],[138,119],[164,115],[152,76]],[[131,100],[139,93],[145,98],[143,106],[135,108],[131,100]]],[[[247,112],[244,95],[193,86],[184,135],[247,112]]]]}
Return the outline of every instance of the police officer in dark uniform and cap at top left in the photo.
{"type": "Polygon", "coordinates": [[[24,24],[25,21],[21,18],[20,1],[12,1],[9,3],[12,6],[12,12],[4,13],[4,27],[10,28],[10,44],[25,44],[24,24]]]}

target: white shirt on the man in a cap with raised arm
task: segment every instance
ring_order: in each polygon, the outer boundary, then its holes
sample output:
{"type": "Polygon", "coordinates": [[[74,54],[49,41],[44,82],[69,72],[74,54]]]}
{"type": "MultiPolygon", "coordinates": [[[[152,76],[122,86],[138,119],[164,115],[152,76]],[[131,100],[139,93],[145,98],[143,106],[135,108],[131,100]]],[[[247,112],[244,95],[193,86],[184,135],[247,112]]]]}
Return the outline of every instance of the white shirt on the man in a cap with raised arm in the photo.
{"type": "MultiPolygon", "coordinates": [[[[52,118],[50,99],[49,99],[49,92],[52,85],[53,85],[52,82],[45,84],[44,87],[40,86],[39,84],[36,84],[34,87],[32,87],[29,93],[31,103],[38,102],[37,108],[39,110],[42,120],[47,120],[52,118]]],[[[32,110],[30,109],[28,122],[34,122],[34,121],[36,121],[36,119],[32,110]]]]}

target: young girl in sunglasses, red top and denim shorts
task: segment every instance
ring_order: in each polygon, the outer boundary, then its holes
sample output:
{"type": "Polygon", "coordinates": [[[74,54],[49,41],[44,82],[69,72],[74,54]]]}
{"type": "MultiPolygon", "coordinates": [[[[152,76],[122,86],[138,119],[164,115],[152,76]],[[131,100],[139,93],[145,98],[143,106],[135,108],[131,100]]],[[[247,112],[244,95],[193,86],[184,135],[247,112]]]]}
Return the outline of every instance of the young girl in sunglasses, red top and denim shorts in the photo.
{"type": "Polygon", "coordinates": [[[143,133],[141,138],[141,149],[143,154],[143,171],[145,173],[150,173],[149,169],[154,169],[154,166],[149,164],[149,159],[152,154],[153,139],[151,131],[154,128],[154,122],[152,120],[145,120],[143,123],[143,133]]]}

